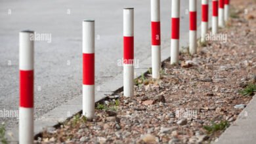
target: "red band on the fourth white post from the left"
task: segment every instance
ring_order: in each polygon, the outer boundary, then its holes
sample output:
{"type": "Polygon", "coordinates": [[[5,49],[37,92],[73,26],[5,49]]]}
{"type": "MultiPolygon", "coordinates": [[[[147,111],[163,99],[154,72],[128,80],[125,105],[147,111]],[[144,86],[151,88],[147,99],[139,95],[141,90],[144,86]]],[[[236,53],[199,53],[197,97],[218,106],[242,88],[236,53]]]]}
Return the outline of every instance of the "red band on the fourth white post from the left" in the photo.
{"type": "Polygon", "coordinates": [[[161,28],[160,22],[151,22],[152,45],[161,45],[161,28]]]}

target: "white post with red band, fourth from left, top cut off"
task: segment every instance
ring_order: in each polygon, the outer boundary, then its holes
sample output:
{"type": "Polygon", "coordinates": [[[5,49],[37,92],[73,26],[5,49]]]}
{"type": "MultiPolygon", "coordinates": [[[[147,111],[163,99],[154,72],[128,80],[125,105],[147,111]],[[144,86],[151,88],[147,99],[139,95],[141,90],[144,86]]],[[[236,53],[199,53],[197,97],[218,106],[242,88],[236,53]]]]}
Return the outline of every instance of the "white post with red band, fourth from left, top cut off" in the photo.
{"type": "Polygon", "coordinates": [[[161,28],[160,0],[151,0],[151,36],[152,36],[152,78],[160,78],[161,69],[161,28]]]}

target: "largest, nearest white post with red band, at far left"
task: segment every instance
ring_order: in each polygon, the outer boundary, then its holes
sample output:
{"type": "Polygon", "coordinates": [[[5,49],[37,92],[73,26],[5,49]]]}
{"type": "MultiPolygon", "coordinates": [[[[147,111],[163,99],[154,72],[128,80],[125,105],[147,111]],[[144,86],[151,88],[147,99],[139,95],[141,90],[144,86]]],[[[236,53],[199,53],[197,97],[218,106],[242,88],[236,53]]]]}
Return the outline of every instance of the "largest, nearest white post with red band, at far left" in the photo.
{"type": "Polygon", "coordinates": [[[34,32],[20,31],[19,143],[33,143],[33,55],[34,32]]]}

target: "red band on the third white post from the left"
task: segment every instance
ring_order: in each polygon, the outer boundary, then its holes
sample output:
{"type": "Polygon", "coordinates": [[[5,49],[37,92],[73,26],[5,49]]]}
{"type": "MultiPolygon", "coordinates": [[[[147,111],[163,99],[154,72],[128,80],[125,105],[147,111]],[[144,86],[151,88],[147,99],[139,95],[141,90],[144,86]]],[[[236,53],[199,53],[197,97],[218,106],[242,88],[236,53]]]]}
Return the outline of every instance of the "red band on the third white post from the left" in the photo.
{"type": "Polygon", "coordinates": [[[123,37],[123,63],[132,64],[134,53],[133,53],[134,39],[133,37],[123,37]]]}

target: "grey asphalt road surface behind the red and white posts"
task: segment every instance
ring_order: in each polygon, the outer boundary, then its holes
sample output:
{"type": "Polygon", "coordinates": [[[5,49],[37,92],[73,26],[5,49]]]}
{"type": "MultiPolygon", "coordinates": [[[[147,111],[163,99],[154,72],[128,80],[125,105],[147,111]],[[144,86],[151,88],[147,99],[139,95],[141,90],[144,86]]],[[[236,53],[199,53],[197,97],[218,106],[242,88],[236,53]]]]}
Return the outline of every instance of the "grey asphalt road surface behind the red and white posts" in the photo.
{"type": "MultiPolygon", "coordinates": [[[[149,0],[0,0],[0,111],[18,111],[20,30],[51,34],[51,43],[35,41],[34,101],[39,118],[82,94],[83,19],[95,19],[96,24],[96,85],[122,72],[118,62],[123,56],[125,7],[135,8],[135,58],[142,61],[151,55],[149,0]]],[[[188,33],[188,25],[188,0],[181,0],[181,35],[188,33]]],[[[171,0],[161,0],[162,42],[169,43],[170,29],[171,0]]],[[[0,117],[0,122],[10,129],[18,120],[0,117]]]]}

